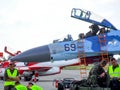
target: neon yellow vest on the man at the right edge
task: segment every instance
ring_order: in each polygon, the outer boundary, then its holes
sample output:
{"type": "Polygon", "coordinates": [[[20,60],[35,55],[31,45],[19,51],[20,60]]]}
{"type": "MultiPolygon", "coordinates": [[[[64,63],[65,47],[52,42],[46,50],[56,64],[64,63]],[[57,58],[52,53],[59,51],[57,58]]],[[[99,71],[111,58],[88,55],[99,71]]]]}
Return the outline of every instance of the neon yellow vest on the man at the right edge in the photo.
{"type": "Polygon", "coordinates": [[[113,71],[113,66],[112,65],[110,65],[109,66],[109,75],[110,75],[110,77],[112,78],[112,77],[118,77],[118,78],[120,78],[120,65],[118,66],[118,67],[116,67],[115,69],[114,69],[114,71],[113,71]]]}

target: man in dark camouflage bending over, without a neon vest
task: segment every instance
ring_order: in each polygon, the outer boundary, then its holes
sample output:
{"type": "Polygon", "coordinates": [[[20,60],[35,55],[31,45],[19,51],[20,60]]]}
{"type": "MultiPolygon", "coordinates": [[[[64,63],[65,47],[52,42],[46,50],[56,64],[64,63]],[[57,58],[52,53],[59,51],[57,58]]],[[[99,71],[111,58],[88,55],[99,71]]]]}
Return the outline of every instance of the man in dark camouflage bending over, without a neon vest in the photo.
{"type": "Polygon", "coordinates": [[[96,64],[89,72],[88,84],[92,84],[100,87],[107,87],[109,85],[109,76],[106,74],[103,67],[107,64],[106,60],[102,60],[99,64],[96,64]]]}

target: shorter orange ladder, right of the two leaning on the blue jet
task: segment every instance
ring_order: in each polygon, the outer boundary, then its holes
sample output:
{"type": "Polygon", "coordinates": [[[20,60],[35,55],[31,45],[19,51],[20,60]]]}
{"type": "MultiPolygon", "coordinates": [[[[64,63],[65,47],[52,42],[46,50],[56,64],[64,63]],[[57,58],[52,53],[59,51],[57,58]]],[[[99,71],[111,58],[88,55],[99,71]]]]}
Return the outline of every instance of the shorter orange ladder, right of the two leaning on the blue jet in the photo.
{"type": "Polygon", "coordinates": [[[100,34],[98,35],[98,41],[100,43],[100,54],[101,54],[101,59],[102,60],[107,60],[109,62],[109,55],[108,55],[108,50],[107,50],[107,45],[106,45],[106,35],[105,34],[100,34]]]}

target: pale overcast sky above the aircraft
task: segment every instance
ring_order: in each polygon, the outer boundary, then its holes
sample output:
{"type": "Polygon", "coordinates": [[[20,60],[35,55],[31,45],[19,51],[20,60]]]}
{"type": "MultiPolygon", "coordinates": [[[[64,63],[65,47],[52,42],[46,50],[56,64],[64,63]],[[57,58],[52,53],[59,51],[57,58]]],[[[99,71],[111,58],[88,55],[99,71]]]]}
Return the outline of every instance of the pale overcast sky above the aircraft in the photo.
{"type": "Polygon", "coordinates": [[[71,18],[72,8],[92,11],[120,29],[120,0],[0,0],[0,51],[24,51],[67,34],[77,39],[91,24],[71,18]]]}

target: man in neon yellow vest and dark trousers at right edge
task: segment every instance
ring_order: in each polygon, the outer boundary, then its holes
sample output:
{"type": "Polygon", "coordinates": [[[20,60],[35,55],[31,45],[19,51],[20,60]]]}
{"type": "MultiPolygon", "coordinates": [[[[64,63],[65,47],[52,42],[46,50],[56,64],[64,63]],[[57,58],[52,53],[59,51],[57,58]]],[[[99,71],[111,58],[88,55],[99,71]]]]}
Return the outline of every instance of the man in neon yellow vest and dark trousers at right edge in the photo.
{"type": "Polygon", "coordinates": [[[110,75],[111,90],[120,90],[120,64],[117,63],[115,58],[111,59],[111,65],[107,72],[110,75]]]}

